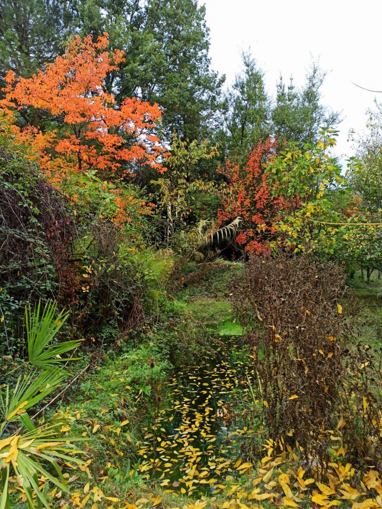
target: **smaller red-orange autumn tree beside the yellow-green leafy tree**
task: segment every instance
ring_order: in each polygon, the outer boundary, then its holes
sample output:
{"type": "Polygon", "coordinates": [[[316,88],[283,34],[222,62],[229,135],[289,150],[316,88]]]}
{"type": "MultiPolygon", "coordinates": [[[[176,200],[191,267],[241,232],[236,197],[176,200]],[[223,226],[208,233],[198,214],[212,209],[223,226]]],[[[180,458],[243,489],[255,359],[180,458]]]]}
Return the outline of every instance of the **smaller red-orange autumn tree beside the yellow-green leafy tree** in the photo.
{"type": "Polygon", "coordinates": [[[287,210],[282,196],[273,195],[273,187],[267,180],[267,164],[276,155],[277,144],[271,138],[259,142],[252,150],[247,163],[226,161],[218,169],[228,183],[218,210],[220,224],[240,216],[242,231],[236,237],[238,244],[249,253],[270,252],[269,242],[278,235],[277,220],[280,212],[287,210]]]}

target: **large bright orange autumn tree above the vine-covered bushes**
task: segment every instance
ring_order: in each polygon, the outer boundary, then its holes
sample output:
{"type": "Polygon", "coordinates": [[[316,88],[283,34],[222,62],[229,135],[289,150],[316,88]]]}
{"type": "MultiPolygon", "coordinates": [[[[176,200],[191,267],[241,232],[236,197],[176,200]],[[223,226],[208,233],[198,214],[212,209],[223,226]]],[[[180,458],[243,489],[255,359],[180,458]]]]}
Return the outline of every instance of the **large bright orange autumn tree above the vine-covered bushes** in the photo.
{"type": "Polygon", "coordinates": [[[27,125],[14,128],[18,138],[33,147],[36,160],[51,182],[60,185],[71,172],[97,172],[105,180],[133,174],[149,164],[164,172],[166,151],[155,133],[161,118],[157,104],[127,98],[116,105],[106,91],[105,78],[121,63],[123,51],[107,50],[108,34],[94,42],[77,36],[63,56],[46,64],[29,79],[5,77],[0,107],[9,119],[34,108],[37,118],[50,116],[53,130],[27,125]]]}

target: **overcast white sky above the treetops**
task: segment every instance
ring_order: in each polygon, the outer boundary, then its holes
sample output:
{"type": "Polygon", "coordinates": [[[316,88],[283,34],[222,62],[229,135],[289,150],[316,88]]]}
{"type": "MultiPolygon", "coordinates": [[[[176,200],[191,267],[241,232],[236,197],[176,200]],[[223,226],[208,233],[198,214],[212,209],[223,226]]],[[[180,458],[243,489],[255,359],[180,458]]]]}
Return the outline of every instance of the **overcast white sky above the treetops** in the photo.
{"type": "Polygon", "coordinates": [[[213,68],[233,81],[250,47],[274,93],[281,74],[304,82],[311,56],[328,71],[324,104],[342,110],[336,153],[352,154],[350,128],[361,131],[374,97],[351,81],[382,90],[382,0],[199,0],[207,10],[213,68]]]}

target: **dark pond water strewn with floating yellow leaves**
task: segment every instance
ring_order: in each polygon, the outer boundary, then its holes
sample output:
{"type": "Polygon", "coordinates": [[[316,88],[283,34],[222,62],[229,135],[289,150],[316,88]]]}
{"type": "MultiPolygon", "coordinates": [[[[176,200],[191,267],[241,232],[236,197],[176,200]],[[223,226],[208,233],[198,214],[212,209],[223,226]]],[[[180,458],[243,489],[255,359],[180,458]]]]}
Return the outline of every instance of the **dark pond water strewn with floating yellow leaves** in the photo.
{"type": "Polygon", "coordinates": [[[202,354],[202,365],[169,379],[170,404],[139,443],[139,471],[165,491],[217,493],[227,475],[249,468],[238,456],[240,437],[252,432],[233,415],[233,403],[249,393],[253,367],[232,341],[202,354]]]}

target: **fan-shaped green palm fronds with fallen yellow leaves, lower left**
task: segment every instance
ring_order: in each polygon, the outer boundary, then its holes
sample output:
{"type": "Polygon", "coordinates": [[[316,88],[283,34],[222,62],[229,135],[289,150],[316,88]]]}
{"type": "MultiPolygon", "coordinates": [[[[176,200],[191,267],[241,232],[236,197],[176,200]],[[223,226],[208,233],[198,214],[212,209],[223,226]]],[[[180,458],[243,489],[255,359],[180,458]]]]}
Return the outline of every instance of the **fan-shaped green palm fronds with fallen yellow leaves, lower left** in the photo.
{"type": "Polygon", "coordinates": [[[44,476],[58,488],[69,489],[60,464],[68,461],[83,463],[76,454],[81,451],[71,442],[83,438],[60,437],[62,418],[53,416],[42,426],[35,426],[27,410],[37,405],[57,389],[69,376],[62,364],[73,357],[61,356],[78,347],[79,341],[52,343],[65,323],[67,314],[57,315],[56,302],[48,302],[41,313],[40,303],[34,313],[25,309],[28,359],[23,372],[11,387],[7,384],[0,394],[0,471],[2,472],[0,509],[10,509],[9,479],[25,493],[28,507],[49,508],[46,495],[39,487],[39,476],[44,476]],[[55,475],[43,465],[51,464],[55,475]]]}

